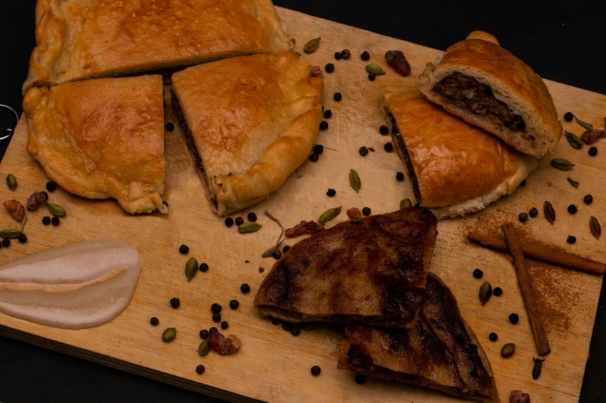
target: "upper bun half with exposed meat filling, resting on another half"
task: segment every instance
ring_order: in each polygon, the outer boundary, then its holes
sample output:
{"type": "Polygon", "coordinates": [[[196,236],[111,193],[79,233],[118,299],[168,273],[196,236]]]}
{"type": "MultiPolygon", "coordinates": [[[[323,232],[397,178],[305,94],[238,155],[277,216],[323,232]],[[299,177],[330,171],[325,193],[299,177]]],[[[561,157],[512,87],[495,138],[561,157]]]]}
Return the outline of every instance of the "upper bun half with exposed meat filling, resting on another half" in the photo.
{"type": "Polygon", "coordinates": [[[540,158],[558,146],[562,125],[547,86],[486,32],[470,33],[428,63],[418,85],[429,100],[525,154],[540,158]]]}

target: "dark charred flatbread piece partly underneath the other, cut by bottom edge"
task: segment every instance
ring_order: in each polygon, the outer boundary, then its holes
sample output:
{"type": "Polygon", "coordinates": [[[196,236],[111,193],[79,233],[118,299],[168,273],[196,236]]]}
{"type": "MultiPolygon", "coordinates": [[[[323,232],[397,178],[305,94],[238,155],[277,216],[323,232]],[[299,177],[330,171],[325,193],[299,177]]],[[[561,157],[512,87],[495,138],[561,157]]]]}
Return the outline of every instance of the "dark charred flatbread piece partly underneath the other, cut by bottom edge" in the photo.
{"type": "Polygon", "coordinates": [[[451,291],[432,273],[410,329],[348,326],[339,368],[457,397],[498,402],[490,362],[451,291]]]}

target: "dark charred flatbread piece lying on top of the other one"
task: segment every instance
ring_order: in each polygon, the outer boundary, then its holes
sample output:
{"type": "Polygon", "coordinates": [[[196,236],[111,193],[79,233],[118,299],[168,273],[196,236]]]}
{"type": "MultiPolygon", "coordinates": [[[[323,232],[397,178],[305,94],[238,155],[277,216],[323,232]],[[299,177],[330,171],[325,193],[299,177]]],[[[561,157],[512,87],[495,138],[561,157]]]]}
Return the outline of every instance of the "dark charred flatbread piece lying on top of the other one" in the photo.
{"type": "Polygon", "coordinates": [[[411,207],[309,236],[275,263],[255,307],[289,322],[414,323],[436,226],[431,211],[411,207]]]}

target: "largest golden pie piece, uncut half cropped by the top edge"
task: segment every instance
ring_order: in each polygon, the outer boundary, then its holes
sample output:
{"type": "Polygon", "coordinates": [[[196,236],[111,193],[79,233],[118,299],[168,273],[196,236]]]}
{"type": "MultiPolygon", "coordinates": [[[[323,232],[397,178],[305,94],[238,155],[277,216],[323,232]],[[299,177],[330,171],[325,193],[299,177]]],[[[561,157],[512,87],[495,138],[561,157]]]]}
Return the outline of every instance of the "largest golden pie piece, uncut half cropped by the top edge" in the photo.
{"type": "Polygon", "coordinates": [[[294,42],[270,0],[38,0],[24,92],[64,83],[279,53],[294,42]]]}

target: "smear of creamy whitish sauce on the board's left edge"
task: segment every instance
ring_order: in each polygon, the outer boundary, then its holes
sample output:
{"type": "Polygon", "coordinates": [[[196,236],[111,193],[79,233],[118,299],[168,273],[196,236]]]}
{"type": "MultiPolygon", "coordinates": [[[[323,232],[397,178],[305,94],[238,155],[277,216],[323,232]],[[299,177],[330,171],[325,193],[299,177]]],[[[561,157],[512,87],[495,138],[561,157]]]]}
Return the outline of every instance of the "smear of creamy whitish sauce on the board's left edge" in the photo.
{"type": "Polygon", "coordinates": [[[118,239],[81,241],[0,266],[0,312],[56,328],[93,328],[128,306],[142,263],[118,239]]]}

